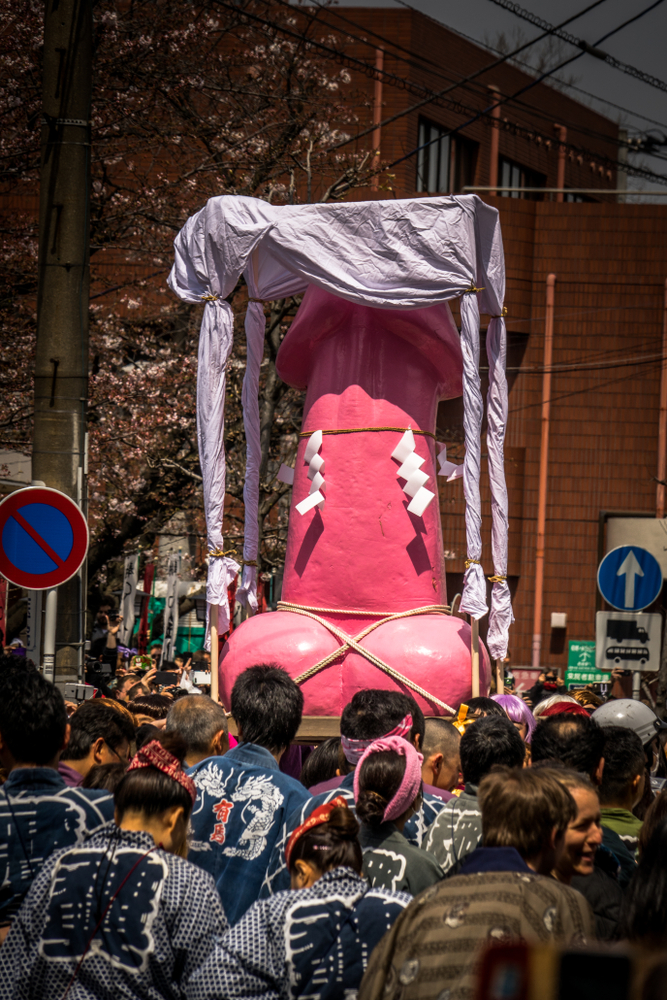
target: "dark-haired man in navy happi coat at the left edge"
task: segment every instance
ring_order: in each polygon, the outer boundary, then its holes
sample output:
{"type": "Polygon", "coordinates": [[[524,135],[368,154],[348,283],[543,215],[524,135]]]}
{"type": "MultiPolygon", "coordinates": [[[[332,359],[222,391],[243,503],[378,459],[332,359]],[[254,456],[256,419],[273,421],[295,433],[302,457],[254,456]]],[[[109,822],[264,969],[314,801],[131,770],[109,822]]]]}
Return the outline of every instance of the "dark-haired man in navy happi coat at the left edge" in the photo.
{"type": "Polygon", "coordinates": [[[69,739],[63,697],[24,659],[0,663],[0,941],[44,861],[113,819],[108,792],[68,788],[58,759],[69,739]]]}

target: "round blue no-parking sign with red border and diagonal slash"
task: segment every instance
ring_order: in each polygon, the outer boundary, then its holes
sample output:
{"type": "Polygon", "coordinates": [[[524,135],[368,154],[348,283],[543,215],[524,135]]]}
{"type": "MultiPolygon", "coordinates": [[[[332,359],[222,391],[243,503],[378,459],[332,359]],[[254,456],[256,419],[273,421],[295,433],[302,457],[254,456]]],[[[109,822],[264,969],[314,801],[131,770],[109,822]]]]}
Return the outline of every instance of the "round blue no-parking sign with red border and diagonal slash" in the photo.
{"type": "Polygon", "coordinates": [[[29,486],[0,503],[0,573],[27,590],[48,590],[79,570],[88,551],[88,525],[60,490],[29,486]]]}

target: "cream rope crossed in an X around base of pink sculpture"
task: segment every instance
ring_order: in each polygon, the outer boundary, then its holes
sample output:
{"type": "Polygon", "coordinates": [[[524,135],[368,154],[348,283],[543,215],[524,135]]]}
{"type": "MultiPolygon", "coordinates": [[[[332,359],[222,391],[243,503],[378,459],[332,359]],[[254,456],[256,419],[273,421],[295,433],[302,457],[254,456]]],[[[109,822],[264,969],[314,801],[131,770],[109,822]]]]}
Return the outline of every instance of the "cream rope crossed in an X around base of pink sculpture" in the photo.
{"type": "Polygon", "coordinates": [[[388,674],[395,681],[398,681],[400,684],[405,684],[406,687],[409,687],[413,691],[416,691],[417,694],[420,694],[422,698],[425,698],[427,701],[432,701],[436,705],[439,705],[440,708],[443,708],[446,712],[450,712],[452,715],[454,714],[454,709],[451,707],[451,705],[448,705],[447,702],[441,701],[440,698],[436,698],[434,694],[429,694],[429,692],[426,691],[419,684],[416,684],[414,681],[411,681],[409,677],[406,677],[404,674],[400,673],[400,671],[395,670],[394,667],[391,667],[388,663],[385,663],[385,661],[381,660],[379,656],[375,655],[375,653],[371,653],[369,649],[366,649],[365,646],[361,645],[362,639],[365,639],[366,636],[369,635],[374,629],[378,628],[380,625],[386,624],[387,622],[398,621],[400,618],[412,618],[415,615],[428,615],[428,614],[451,615],[451,609],[449,608],[448,605],[429,604],[423,608],[413,608],[410,611],[399,611],[396,613],[389,612],[383,614],[382,612],[378,611],[359,611],[358,609],[354,608],[347,608],[347,609],[314,608],[304,604],[292,604],[290,601],[278,601],[277,610],[292,611],[294,612],[294,614],[304,615],[306,618],[312,618],[313,621],[319,622],[320,625],[323,625],[326,629],[328,629],[328,631],[331,632],[331,634],[335,636],[341,643],[340,647],[338,649],[335,649],[333,653],[329,653],[329,655],[325,656],[324,659],[320,660],[314,666],[304,671],[304,673],[299,674],[298,677],[295,677],[294,680],[296,684],[303,684],[314,674],[319,673],[320,670],[324,670],[324,668],[328,667],[330,663],[334,662],[334,660],[337,660],[340,656],[347,653],[348,650],[353,649],[355,653],[359,653],[361,656],[364,656],[374,666],[376,666],[379,670],[383,670],[384,673],[388,674]],[[347,635],[346,632],[343,632],[342,629],[339,629],[336,625],[333,625],[325,618],[322,618],[321,617],[322,614],[350,615],[353,617],[372,616],[373,618],[376,618],[378,614],[380,614],[383,615],[383,617],[381,617],[379,621],[373,622],[371,625],[368,625],[358,635],[350,636],[347,635]]]}

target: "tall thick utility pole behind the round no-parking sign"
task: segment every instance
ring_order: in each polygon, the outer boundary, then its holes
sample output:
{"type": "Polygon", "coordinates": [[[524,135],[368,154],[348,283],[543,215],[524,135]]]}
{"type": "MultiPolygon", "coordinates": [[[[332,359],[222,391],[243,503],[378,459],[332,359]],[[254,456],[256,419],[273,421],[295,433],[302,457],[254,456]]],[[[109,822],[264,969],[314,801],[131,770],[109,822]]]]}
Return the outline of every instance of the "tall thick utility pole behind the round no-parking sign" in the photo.
{"type": "MultiPolygon", "coordinates": [[[[46,0],[32,477],[86,513],[92,0],[46,0]]],[[[85,575],[58,588],[56,679],[83,654],[85,575]]]]}

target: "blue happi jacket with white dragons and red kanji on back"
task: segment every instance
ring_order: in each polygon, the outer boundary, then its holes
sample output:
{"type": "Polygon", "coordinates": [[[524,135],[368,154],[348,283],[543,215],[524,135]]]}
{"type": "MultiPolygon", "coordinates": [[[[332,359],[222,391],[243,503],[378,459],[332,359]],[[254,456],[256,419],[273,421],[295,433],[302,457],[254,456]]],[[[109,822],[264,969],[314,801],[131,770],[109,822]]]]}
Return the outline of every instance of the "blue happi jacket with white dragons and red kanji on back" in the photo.
{"type": "Polygon", "coordinates": [[[253,743],[208,757],[188,774],[197,786],[188,858],[213,876],[234,924],[259,898],[274,850],[284,854],[288,818],[311,796],[253,743]]]}

